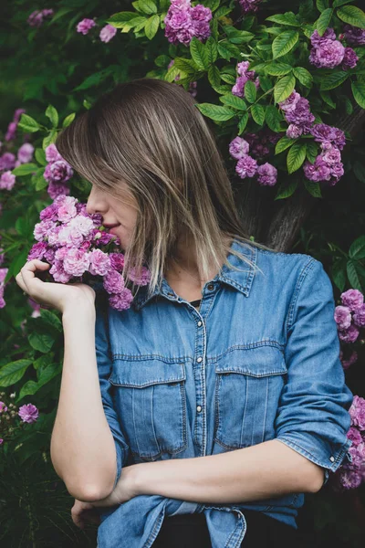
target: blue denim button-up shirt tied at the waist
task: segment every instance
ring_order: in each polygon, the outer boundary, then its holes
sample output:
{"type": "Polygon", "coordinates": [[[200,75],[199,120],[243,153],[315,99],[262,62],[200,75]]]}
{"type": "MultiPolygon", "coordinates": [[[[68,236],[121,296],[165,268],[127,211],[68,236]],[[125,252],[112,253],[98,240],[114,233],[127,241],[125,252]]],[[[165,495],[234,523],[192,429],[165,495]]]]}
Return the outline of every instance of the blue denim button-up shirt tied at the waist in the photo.
{"type": "MultiPolygon", "coordinates": [[[[199,311],[164,278],[149,299],[142,287],[127,311],[101,306],[97,293],[99,383],[117,451],[115,484],[129,464],[215,455],[273,438],[323,467],[326,480],[348,457],[352,394],[322,263],[237,240],[232,248],[261,271],[230,253],[240,270],[224,265],[206,282],[199,311]]],[[[164,516],[204,512],[213,548],[239,548],[245,509],[296,528],[303,501],[302,493],[242,504],[139,495],[100,509],[98,547],[150,548],[164,516]]]]}

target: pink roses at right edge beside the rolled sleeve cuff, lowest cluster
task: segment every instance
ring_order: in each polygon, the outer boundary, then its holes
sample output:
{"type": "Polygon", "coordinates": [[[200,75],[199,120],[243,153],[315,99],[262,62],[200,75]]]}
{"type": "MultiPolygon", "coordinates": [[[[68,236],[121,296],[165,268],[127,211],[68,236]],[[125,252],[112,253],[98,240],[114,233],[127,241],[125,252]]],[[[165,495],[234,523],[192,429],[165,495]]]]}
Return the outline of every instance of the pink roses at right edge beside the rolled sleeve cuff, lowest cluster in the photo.
{"type": "Polygon", "coordinates": [[[349,408],[351,417],[347,437],[352,441],[349,448],[351,461],[342,465],[336,473],[339,489],[356,489],[365,481],[365,399],[354,395],[349,408]]]}

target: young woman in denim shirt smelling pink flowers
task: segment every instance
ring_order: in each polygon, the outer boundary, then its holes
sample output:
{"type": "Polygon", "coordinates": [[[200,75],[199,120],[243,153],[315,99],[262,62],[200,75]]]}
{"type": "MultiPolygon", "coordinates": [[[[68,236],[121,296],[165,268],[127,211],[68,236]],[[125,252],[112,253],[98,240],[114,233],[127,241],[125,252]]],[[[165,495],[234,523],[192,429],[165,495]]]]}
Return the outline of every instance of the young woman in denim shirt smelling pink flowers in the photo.
{"type": "Polygon", "coordinates": [[[182,86],[137,79],[57,138],[120,238],[130,309],[84,284],[16,281],[62,311],[51,457],[99,548],[297,542],[297,509],[350,441],[331,282],[306,254],[245,235],[224,161],[182,86]]]}

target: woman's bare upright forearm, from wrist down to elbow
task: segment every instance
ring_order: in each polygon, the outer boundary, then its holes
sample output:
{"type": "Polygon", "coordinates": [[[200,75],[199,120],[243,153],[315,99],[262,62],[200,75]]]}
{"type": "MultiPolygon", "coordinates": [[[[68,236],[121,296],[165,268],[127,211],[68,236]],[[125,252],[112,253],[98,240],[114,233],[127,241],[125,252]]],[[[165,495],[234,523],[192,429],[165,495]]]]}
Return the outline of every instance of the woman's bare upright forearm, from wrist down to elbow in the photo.
{"type": "Polygon", "coordinates": [[[116,452],[104,413],[95,350],[95,309],[75,306],[62,317],[64,362],[51,459],[78,500],[112,490],[116,452]]]}

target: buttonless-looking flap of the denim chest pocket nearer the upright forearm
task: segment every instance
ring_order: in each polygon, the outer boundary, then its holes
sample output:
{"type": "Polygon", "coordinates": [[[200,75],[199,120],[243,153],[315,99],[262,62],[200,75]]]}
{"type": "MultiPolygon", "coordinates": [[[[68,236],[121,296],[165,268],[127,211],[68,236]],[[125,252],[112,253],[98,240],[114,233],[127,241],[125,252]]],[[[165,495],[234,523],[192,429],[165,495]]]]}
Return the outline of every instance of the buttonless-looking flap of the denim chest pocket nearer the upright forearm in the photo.
{"type": "Polygon", "coordinates": [[[109,381],[112,385],[142,388],[163,383],[177,383],[186,379],[183,362],[115,359],[109,381]]]}

